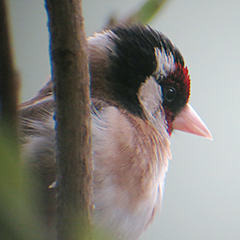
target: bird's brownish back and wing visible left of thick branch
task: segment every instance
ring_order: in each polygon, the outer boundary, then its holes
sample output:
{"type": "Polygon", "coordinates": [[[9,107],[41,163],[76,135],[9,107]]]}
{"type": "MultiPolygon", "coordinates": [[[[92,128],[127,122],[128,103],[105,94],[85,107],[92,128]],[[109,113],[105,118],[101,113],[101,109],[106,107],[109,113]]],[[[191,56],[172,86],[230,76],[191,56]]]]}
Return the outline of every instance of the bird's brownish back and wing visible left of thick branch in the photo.
{"type": "Polygon", "coordinates": [[[22,161],[30,176],[33,176],[35,203],[49,226],[50,235],[54,233],[56,205],[55,191],[49,189],[56,180],[54,108],[51,80],[33,99],[19,106],[22,161]]]}

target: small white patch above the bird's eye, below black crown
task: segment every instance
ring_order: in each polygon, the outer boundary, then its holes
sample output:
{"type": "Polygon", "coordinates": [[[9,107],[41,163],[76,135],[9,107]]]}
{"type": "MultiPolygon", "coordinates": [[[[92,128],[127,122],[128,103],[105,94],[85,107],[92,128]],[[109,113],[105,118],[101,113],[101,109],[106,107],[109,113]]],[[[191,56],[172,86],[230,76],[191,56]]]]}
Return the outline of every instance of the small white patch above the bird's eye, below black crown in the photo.
{"type": "Polygon", "coordinates": [[[175,59],[172,53],[167,54],[164,48],[160,50],[155,48],[155,56],[157,60],[156,75],[162,75],[166,77],[170,72],[174,72],[176,69],[175,59]]]}

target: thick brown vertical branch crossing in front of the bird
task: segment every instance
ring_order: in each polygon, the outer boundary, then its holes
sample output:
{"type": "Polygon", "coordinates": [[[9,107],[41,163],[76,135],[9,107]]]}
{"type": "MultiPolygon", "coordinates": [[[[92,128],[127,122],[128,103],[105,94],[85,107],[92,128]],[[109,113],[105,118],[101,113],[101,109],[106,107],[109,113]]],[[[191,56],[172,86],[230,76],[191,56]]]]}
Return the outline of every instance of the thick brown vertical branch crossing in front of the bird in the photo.
{"type": "Polygon", "coordinates": [[[92,164],[89,73],[81,0],[45,2],[57,103],[57,234],[58,240],[84,240],[89,239],[92,164]]]}

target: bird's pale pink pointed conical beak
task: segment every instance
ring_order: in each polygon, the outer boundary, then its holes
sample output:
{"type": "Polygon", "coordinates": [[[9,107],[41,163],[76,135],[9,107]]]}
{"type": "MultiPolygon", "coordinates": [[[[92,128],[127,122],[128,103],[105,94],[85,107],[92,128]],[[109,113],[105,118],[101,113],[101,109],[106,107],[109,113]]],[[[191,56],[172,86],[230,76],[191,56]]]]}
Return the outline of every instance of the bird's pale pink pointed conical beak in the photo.
{"type": "Polygon", "coordinates": [[[212,135],[196,111],[187,104],[174,119],[173,129],[192,133],[212,140],[212,135]]]}

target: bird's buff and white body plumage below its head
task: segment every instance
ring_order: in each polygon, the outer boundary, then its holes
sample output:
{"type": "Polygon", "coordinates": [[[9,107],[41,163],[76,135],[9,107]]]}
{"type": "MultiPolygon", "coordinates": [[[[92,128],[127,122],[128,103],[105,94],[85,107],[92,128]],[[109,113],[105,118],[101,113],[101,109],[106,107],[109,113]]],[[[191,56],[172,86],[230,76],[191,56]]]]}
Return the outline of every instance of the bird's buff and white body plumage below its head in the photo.
{"type": "MultiPolygon", "coordinates": [[[[36,171],[45,172],[41,189],[53,206],[53,190],[48,187],[56,171],[55,103],[52,91],[45,89],[49,86],[51,82],[21,106],[20,119],[23,155],[36,171]]],[[[116,238],[137,239],[161,205],[170,156],[167,132],[97,99],[92,99],[91,116],[94,223],[116,238]]],[[[154,122],[163,121],[160,108],[151,118],[156,116],[160,119],[154,122]]],[[[42,208],[48,215],[49,207],[42,208]]],[[[54,209],[50,213],[48,221],[54,209]]]]}

